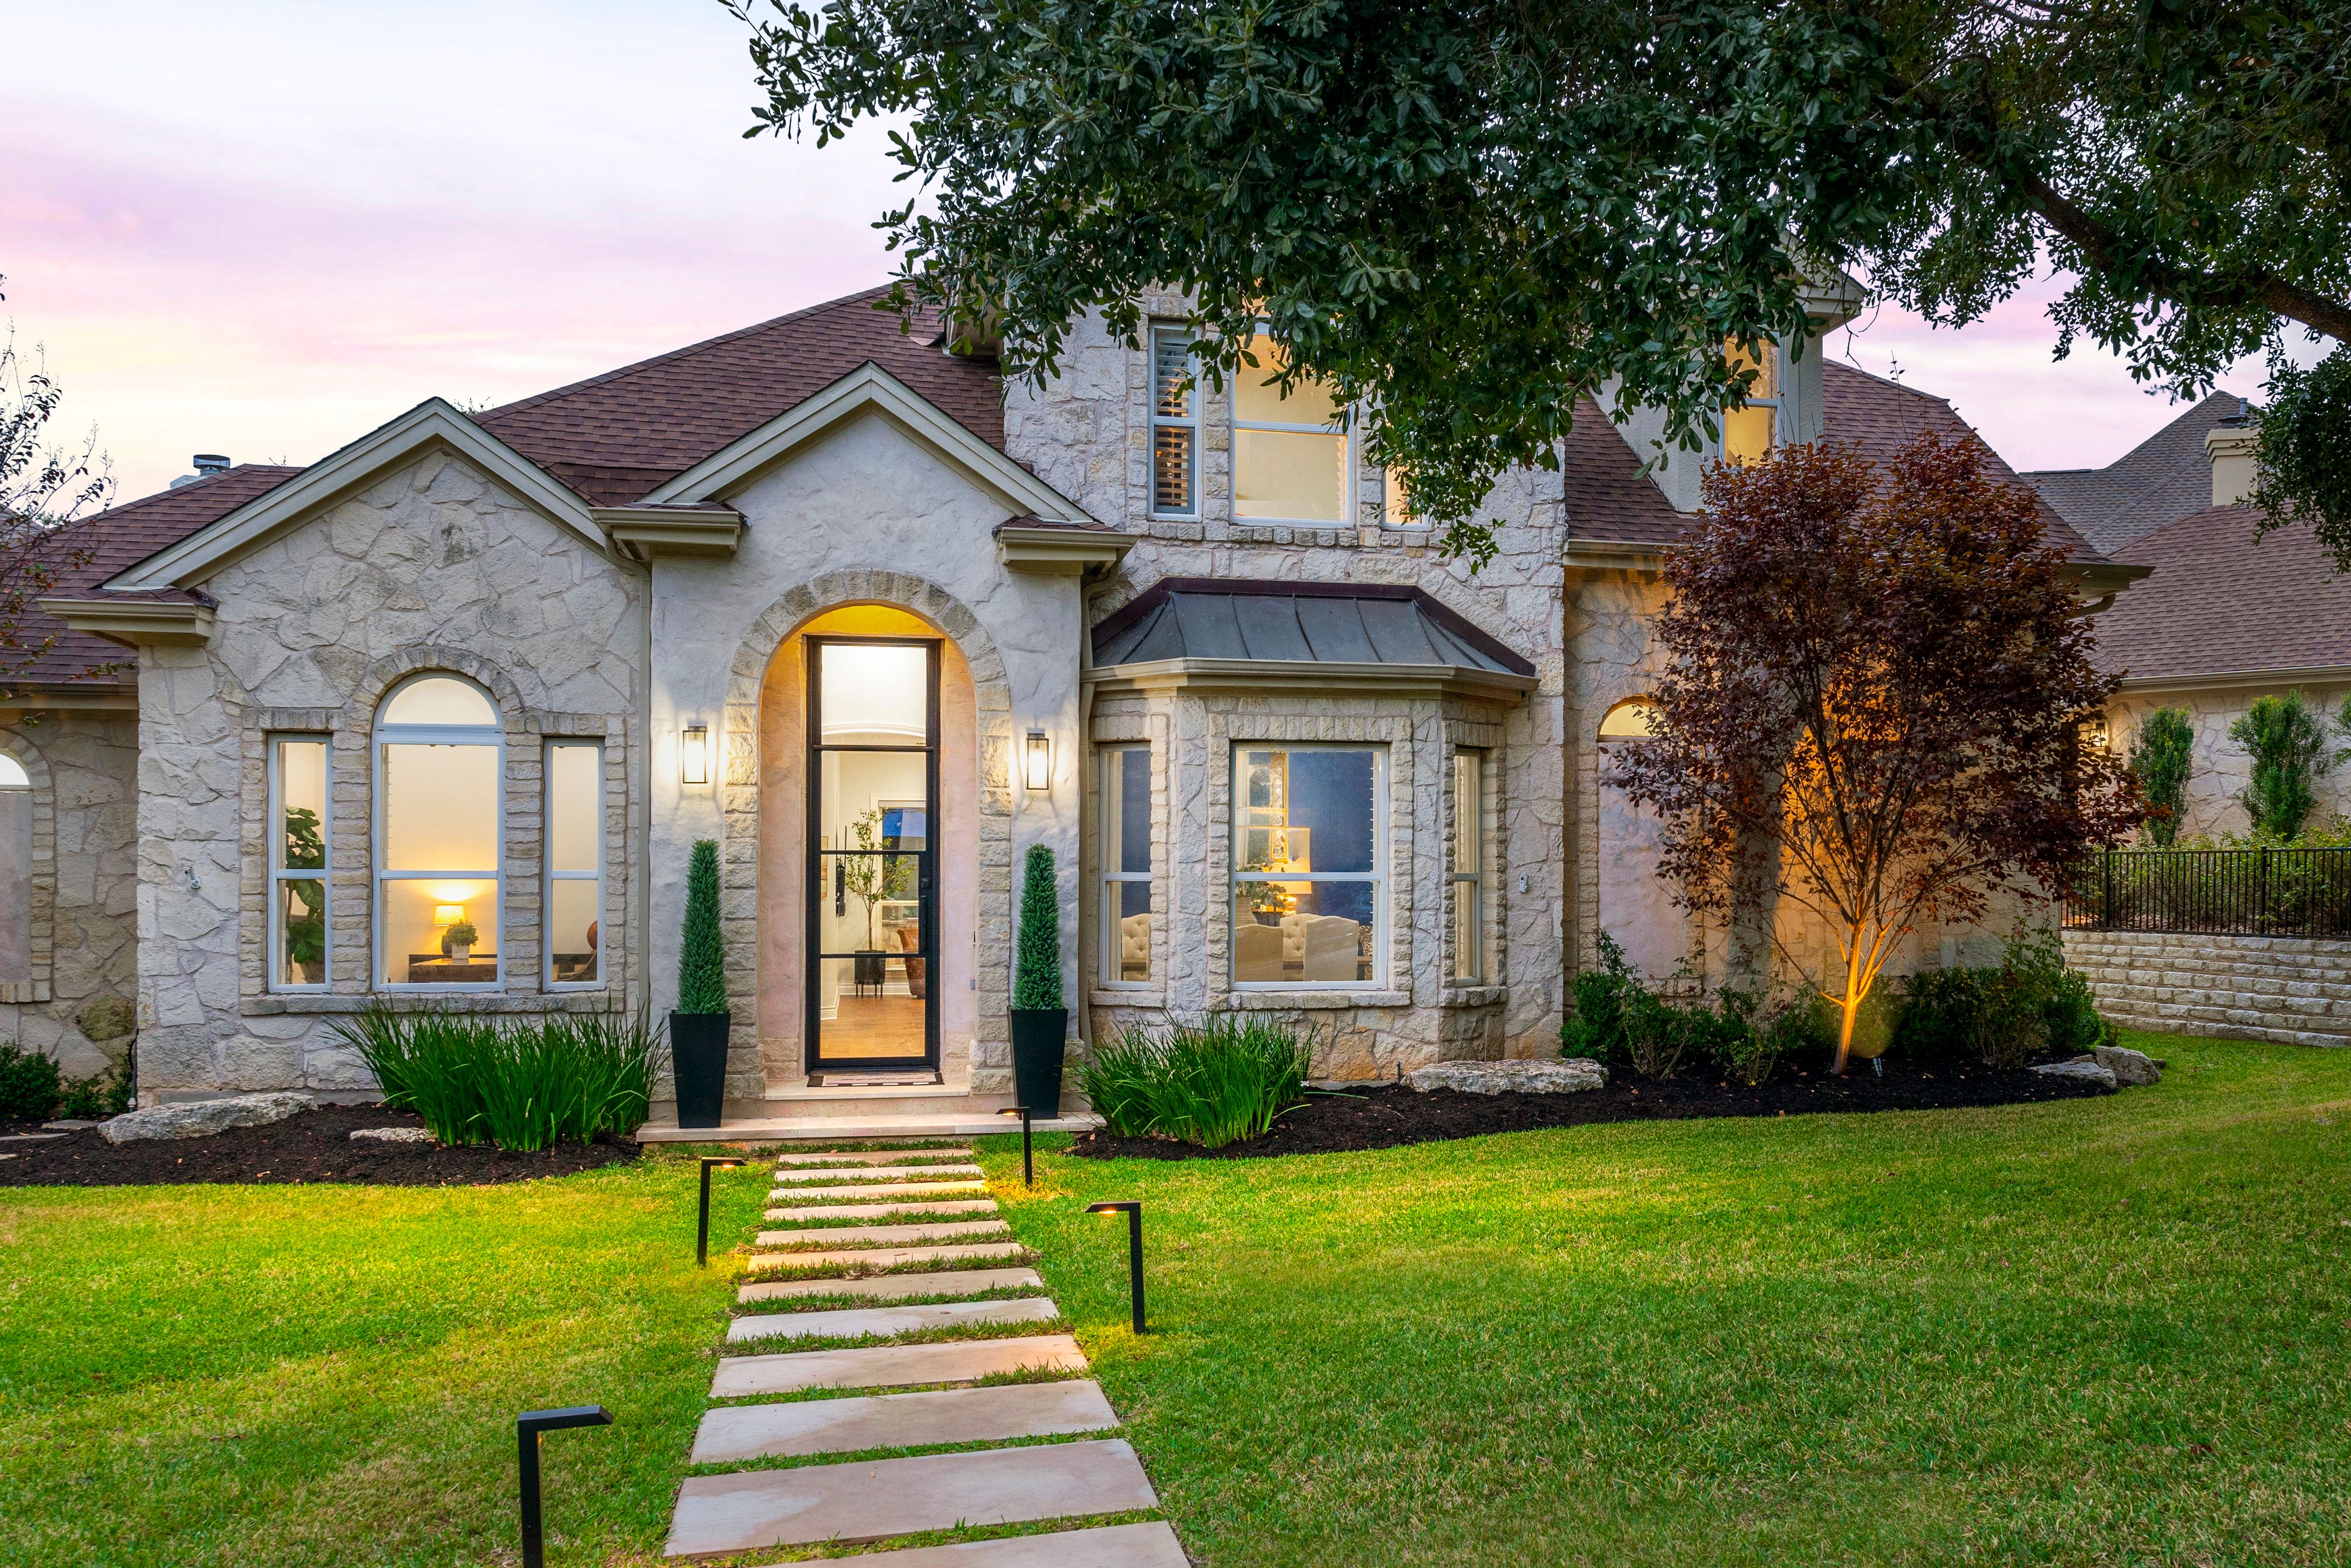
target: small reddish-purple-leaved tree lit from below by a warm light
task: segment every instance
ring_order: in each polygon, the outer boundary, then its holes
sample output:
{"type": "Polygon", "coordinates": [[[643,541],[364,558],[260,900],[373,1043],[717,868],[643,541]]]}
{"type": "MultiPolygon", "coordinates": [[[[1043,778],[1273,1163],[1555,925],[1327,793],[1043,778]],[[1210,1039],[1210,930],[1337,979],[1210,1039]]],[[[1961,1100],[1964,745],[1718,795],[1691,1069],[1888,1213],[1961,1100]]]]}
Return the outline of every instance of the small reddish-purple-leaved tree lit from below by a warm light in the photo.
{"type": "Polygon", "coordinates": [[[2130,771],[2081,738],[2116,679],[2064,552],[1972,442],[1883,470],[1824,444],[1716,465],[1667,581],[1655,731],[1606,783],[1665,818],[1657,875],[1686,907],[1761,905],[1777,938],[1789,903],[1829,929],[1846,1041],[1921,922],[2048,898],[2137,825],[2130,771]]]}

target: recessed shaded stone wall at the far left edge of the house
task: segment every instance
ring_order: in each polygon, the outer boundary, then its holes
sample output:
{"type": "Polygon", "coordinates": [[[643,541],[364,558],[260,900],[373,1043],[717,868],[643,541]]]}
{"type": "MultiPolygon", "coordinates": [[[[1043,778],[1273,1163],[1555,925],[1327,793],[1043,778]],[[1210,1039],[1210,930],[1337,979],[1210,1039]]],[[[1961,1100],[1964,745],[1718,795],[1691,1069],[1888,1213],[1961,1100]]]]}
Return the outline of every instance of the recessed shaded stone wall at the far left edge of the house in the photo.
{"type": "Polygon", "coordinates": [[[31,790],[0,867],[21,900],[24,969],[0,976],[0,1039],[92,1077],[132,1048],[139,987],[139,719],[68,710],[0,715],[0,752],[31,790]],[[16,851],[24,860],[16,863],[16,851]]]}

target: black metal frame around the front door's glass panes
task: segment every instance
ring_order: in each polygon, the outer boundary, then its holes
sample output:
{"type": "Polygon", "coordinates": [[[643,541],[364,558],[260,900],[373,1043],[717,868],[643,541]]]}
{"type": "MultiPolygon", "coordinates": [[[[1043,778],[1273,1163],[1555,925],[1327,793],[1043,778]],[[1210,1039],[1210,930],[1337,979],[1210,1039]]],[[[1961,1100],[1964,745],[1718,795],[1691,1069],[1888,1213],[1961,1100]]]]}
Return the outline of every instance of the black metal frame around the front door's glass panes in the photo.
{"type": "MultiPolygon", "coordinates": [[[[802,943],[799,943],[799,992],[802,992],[802,1030],[804,1030],[804,1058],[806,1070],[813,1072],[870,1072],[877,1067],[900,1067],[900,1070],[926,1070],[938,1072],[938,952],[943,943],[938,940],[938,851],[943,842],[943,818],[938,806],[938,637],[804,637],[802,639],[802,663],[806,665],[806,802],[802,804],[802,837],[806,837],[806,903],[802,917],[802,943]],[[825,649],[828,646],[884,646],[884,649],[924,649],[924,745],[825,745],[825,698],[823,698],[823,672],[825,672],[825,649]],[[922,931],[912,954],[924,961],[924,992],[922,992],[922,1063],[905,1056],[823,1056],[823,1020],[818,1018],[818,966],[825,961],[823,952],[823,903],[825,903],[825,851],[818,849],[818,823],[823,813],[825,752],[924,752],[924,849],[898,851],[915,853],[915,919],[922,931]]],[[[835,851],[837,853],[837,851],[835,851]]],[[[849,954],[832,954],[849,957],[849,954]]]]}

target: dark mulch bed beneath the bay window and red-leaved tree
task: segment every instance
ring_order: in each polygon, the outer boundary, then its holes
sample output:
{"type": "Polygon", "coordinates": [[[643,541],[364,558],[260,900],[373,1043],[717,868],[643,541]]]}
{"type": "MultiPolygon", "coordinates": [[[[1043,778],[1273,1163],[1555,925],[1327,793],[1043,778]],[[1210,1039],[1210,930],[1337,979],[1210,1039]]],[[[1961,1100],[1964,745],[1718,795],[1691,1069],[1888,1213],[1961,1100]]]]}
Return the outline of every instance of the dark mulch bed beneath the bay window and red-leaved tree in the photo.
{"type": "MultiPolygon", "coordinates": [[[[2059,1058],[2052,1058],[2059,1060],[2059,1058]]],[[[1366,1084],[1345,1093],[1310,1093],[1274,1121],[1265,1138],[1201,1150],[1173,1138],[1081,1133],[1072,1154],[1096,1159],[1265,1159],[1270,1154],[1342,1154],[1394,1150],[1406,1143],[1526,1133],[1540,1126],[1599,1121],[1690,1121],[1697,1117],[1808,1117],[1820,1112],[1949,1110],[1958,1105],[2022,1105],[2116,1093],[2081,1079],[2052,1079],[2024,1067],[1970,1063],[1853,1063],[1831,1077],[1827,1060],[1782,1065],[1761,1088],[1686,1072],[1650,1081],[1625,1067],[1608,1070],[1606,1088],[1570,1095],[1465,1095],[1451,1088],[1420,1093],[1404,1084],[1366,1084]]]]}

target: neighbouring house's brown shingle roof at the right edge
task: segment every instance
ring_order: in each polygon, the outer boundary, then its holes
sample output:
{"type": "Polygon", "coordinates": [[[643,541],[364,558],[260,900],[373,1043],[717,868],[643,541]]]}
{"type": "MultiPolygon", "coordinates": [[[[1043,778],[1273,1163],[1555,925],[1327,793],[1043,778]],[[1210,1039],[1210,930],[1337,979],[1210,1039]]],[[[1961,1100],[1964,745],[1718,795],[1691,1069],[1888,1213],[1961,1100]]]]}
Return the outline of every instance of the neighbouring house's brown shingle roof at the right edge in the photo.
{"type": "MultiPolygon", "coordinates": [[[[2210,480],[2208,480],[2210,484],[2210,480]]],[[[2208,505],[2118,550],[2154,574],[2097,618],[2097,661],[2130,679],[2351,665],[2351,576],[2306,524],[2208,505]]]]}

